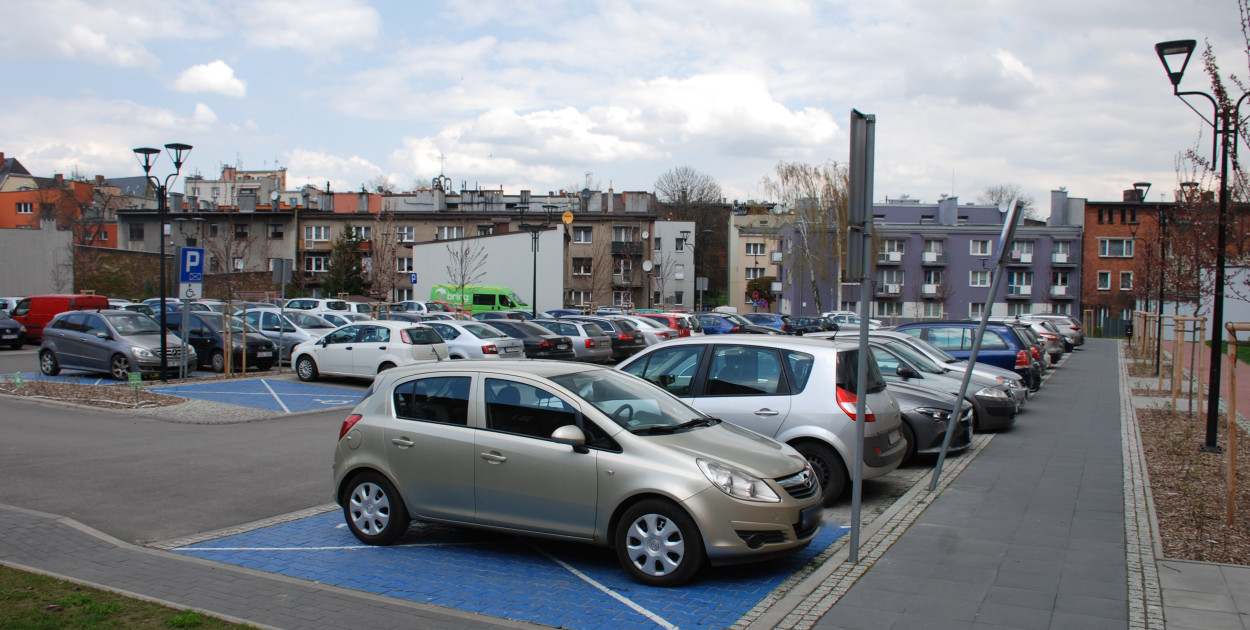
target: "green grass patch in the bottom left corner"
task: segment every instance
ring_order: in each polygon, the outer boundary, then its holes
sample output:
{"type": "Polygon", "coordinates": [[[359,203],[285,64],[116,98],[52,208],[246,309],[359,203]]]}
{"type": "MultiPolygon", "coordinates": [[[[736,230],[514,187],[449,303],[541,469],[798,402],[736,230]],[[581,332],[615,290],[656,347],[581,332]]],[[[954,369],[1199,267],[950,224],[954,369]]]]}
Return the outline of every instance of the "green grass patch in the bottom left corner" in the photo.
{"type": "Polygon", "coordinates": [[[0,628],[5,630],[248,629],[188,610],[0,566],[0,628]]]}

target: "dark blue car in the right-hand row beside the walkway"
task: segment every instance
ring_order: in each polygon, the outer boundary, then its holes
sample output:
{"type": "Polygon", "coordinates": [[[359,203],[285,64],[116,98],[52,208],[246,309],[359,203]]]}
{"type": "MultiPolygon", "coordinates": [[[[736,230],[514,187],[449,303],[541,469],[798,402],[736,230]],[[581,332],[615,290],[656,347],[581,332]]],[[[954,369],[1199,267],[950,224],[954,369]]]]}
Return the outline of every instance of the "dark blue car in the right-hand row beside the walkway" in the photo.
{"type": "MultiPolygon", "coordinates": [[[[979,324],[978,321],[918,321],[895,326],[894,330],[924,339],[956,359],[966,360],[972,354],[972,336],[976,334],[979,324]]],[[[1019,374],[1030,391],[1038,391],[1041,388],[1039,365],[1032,360],[1029,348],[1020,342],[1020,339],[1006,324],[991,321],[986,325],[976,362],[1019,374]]]]}

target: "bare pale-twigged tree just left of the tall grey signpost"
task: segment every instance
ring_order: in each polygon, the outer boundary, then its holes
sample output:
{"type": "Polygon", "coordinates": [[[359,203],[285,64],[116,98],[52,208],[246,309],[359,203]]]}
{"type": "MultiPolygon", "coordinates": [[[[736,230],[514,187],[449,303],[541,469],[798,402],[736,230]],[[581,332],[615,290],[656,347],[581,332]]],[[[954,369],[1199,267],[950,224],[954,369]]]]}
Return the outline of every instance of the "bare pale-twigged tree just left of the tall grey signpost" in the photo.
{"type": "Polygon", "coordinates": [[[850,189],[846,165],[829,161],[821,165],[779,162],[772,176],[764,178],[764,189],[785,210],[782,220],[795,231],[796,269],[811,288],[816,311],[824,308],[821,286],[835,288],[834,308],[841,304],[841,278],[846,268],[842,242],[846,235],[850,189]]]}

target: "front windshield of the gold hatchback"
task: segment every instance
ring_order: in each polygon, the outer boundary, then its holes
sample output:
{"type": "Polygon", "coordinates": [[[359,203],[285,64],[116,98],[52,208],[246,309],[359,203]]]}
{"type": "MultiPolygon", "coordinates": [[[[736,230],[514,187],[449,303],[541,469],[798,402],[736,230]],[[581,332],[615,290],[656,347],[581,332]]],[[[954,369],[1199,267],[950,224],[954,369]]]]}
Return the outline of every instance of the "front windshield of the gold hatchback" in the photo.
{"type": "Polygon", "coordinates": [[[665,434],[716,422],[672,394],[622,371],[576,371],[551,380],[630,432],[665,434]]]}

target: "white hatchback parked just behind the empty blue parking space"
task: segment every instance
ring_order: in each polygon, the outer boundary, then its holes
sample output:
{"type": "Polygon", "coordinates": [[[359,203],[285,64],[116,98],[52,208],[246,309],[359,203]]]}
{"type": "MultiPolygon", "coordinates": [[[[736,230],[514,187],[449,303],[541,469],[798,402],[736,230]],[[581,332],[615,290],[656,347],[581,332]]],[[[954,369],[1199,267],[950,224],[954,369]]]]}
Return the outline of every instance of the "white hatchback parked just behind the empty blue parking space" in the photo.
{"type": "Polygon", "coordinates": [[[305,341],[291,354],[295,374],[304,381],[319,376],[375,376],[378,372],[448,358],[439,334],[410,321],[364,321],[305,341]]]}

